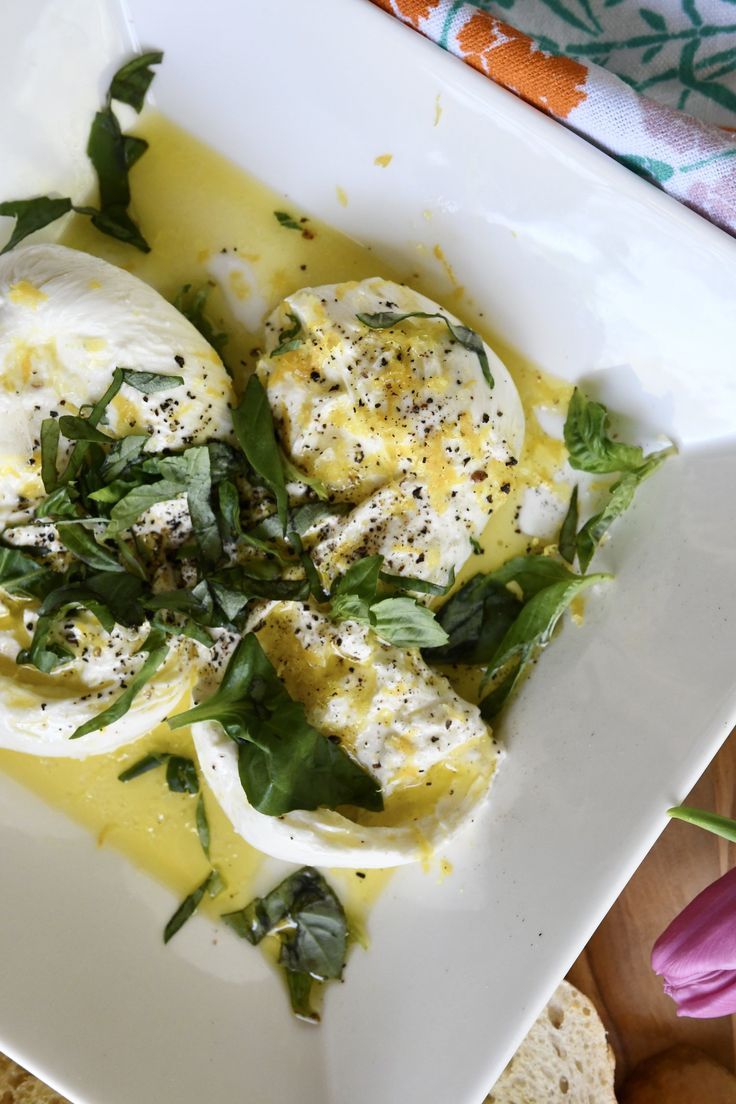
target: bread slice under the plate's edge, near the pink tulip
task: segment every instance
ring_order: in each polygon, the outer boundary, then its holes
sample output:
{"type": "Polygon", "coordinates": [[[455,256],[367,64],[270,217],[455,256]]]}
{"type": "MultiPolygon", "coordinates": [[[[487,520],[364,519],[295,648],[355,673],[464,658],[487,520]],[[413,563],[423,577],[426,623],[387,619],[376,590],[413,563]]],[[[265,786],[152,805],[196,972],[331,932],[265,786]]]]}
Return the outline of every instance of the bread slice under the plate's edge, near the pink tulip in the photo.
{"type": "Polygon", "coordinates": [[[616,1104],[614,1068],[595,1007],[561,981],[486,1104],[616,1104]]]}

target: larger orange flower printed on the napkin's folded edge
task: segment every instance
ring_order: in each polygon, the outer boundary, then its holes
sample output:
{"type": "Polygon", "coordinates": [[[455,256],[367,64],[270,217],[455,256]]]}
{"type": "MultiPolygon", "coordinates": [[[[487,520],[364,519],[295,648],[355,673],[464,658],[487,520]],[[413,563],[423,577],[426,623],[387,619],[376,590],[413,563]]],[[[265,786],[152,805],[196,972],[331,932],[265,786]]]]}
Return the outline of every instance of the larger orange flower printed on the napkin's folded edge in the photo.
{"type": "Polygon", "coordinates": [[[457,43],[473,68],[516,95],[566,119],[586,98],[588,70],[572,57],[555,57],[508,23],[477,11],[461,28],[457,43]]]}

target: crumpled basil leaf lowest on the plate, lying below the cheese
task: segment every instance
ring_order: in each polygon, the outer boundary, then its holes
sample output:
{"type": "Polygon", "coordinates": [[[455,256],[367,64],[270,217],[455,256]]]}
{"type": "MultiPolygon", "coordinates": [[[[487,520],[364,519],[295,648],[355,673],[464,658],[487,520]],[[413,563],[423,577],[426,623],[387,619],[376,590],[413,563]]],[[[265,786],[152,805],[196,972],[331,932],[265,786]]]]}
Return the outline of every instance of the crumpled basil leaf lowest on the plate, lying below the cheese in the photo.
{"type": "Polygon", "coordinates": [[[266,935],[278,937],[291,1008],[300,1018],[318,1022],[310,1000],[313,984],[341,978],[348,949],[344,910],[319,871],[302,867],[266,896],[222,919],[254,945],[266,935]]]}

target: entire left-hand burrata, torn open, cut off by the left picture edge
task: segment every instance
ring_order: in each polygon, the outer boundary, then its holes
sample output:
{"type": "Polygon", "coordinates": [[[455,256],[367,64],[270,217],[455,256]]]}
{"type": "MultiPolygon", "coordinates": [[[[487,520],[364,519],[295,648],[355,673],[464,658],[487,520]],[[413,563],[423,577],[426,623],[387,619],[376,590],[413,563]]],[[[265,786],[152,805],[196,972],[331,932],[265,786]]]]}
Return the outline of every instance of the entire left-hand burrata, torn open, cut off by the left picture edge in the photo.
{"type": "MultiPolygon", "coordinates": [[[[58,245],[0,257],[0,526],[9,518],[22,522],[15,537],[8,531],[8,543],[58,550],[53,527],[29,524],[45,493],[41,422],[94,403],[118,367],[180,375],[184,382],[151,395],[124,384],[102,424],[111,436],[148,433],[149,453],[231,437],[234,396],[220,358],[157,291],[58,245]]],[[[182,511],[183,499],[148,511],[137,527],[142,543],[175,545],[188,531],[182,511]]],[[[39,603],[1,591],[0,596],[1,747],[75,758],[110,751],[154,728],[196,677],[201,649],[170,638],[167,660],[130,710],[106,729],[70,740],[140,669],[146,655],[138,649],[149,626],[116,626],[108,634],[92,614],[76,611],[57,630],[57,643],[73,658],[44,673],[15,662],[30,644],[39,603]]]]}

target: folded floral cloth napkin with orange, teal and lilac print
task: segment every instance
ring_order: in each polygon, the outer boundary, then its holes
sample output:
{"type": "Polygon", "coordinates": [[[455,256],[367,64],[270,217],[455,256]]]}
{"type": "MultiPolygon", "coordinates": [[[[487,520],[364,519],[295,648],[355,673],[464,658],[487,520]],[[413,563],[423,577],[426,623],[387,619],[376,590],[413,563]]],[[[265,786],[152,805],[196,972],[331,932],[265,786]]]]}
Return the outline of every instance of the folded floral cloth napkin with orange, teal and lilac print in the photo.
{"type": "Polygon", "coordinates": [[[736,0],[373,2],[736,234],[736,0]]]}

